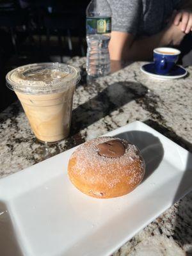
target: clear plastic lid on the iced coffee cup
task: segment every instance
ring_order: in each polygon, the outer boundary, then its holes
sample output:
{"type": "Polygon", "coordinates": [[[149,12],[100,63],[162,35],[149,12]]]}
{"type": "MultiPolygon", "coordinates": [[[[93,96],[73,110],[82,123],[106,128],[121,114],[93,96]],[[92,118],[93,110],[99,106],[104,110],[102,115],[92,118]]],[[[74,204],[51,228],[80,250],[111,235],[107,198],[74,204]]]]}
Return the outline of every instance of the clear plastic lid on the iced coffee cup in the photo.
{"type": "Polygon", "coordinates": [[[56,93],[77,84],[77,68],[63,63],[35,63],[8,72],[6,84],[16,92],[30,94],[56,93]]]}

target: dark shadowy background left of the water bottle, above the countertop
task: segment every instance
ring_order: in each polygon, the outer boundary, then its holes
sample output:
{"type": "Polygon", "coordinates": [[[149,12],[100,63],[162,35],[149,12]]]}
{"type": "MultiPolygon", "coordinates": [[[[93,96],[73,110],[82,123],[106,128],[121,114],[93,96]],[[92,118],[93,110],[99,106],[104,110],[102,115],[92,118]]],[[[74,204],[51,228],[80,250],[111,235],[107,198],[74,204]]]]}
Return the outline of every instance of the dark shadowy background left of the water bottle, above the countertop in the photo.
{"type": "Polygon", "coordinates": [[[40,61],[85,56],[85,10],[90,0],[0,0],[0,111],[17,98],[6,73],[40,61]]]}

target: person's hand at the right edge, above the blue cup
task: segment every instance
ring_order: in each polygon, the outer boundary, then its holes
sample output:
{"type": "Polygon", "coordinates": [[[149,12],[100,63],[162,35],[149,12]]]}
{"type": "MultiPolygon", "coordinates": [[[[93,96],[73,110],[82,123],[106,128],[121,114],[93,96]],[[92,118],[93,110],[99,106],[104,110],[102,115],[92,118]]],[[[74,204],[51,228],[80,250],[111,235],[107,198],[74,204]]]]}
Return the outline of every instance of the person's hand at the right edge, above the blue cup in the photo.
{"type": "Polygon", "coordinates": [[[180,25],[180,29],[188,34],[192,31],[192,12],[190,10],[180,10],[175,15],[174,24],[175,26],[180,25]]]}

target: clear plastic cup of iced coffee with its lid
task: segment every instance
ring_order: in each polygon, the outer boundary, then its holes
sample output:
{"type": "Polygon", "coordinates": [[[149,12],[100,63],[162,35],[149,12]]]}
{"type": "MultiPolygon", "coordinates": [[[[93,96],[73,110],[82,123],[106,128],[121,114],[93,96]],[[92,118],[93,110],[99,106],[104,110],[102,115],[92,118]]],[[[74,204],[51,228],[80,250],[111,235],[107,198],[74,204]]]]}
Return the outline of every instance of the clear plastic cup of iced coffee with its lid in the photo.
{"type": "Polygon", "coordinates": [[[6,75],[6,84],[17,94],[32,131],[44,142],[68,136],[79,80],[79,71],[63,63],[24,65],[6,75]]]}

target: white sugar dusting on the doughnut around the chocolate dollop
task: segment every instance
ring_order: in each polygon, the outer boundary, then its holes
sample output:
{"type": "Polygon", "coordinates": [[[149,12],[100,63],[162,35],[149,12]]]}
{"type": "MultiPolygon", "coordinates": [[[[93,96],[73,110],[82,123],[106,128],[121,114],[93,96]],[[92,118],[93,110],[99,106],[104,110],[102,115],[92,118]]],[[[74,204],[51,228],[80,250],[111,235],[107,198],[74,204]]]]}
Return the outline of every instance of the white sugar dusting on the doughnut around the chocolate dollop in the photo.
{"type": "Polygon", "coordinates": [[[88,182],[93,185],[102,180],[103,184],[113,188],[120,180],[124,179],[125,183],[134,186],[143,178],[145,163],[138,148],[128,141],[118,138],[100,137],[87,141],[72,154],[70,159],[73,158],[76,159],[76,164],[72,168],[73,172],[79,177],[86,173],[88,182]],[[122,142],[125,147],[125,154],[115,158],[100,156],[97,145],[110,140],[122,142]],[[136,168],[136,162],[141,166],[140,172],[136,168]],[[88,173],[88,170],[92,170],[92,175],[88,173]]]}

